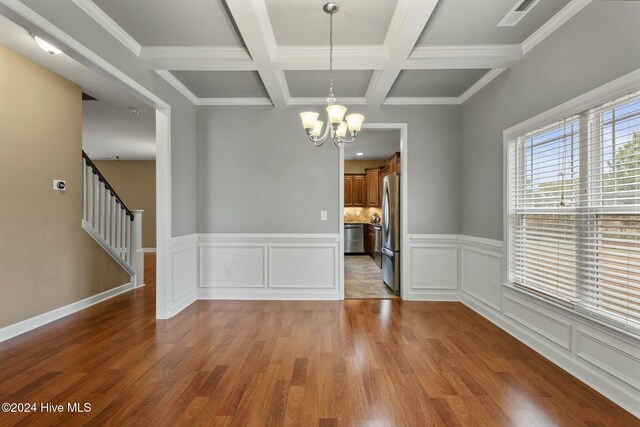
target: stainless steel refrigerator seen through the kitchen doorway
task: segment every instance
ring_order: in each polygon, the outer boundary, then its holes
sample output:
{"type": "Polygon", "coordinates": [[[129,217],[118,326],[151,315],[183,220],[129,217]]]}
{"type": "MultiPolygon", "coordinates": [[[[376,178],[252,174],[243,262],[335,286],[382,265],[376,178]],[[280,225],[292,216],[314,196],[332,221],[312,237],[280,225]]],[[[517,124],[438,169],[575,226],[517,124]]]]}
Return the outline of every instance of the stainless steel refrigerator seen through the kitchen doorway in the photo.
{"type": "Polygon", "coordinates": [[[400,175],[382,180],[382,279],[400,294],[400,175]]]}

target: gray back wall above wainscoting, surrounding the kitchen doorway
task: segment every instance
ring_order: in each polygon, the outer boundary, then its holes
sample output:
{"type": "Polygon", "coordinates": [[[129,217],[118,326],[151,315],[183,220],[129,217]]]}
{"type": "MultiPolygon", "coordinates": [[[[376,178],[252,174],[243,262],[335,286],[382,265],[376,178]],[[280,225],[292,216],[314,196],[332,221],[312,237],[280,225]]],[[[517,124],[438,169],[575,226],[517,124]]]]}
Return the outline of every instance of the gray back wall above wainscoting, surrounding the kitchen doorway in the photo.
{"type": "MultiPolygon", "coordinates": [[[[322,107],[198,107],[199,233],[339,231],[339,153],[331,142],[313,147],[298,115],[305,110],[322,107]]],[[[349,111],[368,123],[408,123],[408,230],[458,233],[458,107],[349,111]]]]}

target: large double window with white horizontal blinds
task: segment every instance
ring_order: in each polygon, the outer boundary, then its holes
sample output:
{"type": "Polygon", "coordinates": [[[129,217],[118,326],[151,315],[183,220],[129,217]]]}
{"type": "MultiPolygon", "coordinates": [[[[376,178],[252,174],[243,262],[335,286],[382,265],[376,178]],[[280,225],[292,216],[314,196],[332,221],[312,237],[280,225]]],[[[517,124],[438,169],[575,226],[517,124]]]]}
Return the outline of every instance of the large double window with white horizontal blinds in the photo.
{"type": "Polygon", "coordinates": [[[510,283],[640,332],[640,92],[508,149],[510,283]]]}

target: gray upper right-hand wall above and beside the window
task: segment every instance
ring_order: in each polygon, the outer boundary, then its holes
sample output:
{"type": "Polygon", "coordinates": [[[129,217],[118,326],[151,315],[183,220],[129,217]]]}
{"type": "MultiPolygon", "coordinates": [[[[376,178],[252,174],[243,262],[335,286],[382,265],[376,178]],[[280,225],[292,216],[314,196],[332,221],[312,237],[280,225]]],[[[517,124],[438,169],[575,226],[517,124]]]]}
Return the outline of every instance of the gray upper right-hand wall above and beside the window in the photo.
{"type": "Polygon", "coordinates": [[[503,238],[503,130],[639,68],[639,18],[594,2],[462,106],[462,234],[503,238]]]}

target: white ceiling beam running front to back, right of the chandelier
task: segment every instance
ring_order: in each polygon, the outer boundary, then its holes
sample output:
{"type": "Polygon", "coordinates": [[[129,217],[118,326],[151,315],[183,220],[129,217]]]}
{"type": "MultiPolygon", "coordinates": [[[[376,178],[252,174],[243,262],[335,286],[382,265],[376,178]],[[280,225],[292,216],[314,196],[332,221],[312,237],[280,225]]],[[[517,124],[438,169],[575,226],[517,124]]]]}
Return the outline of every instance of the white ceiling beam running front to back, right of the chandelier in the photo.
{"type": "Polygon", "coordinates": [[[388,62],[383,69],[373,73],[369,82],[365,95],[369,105],[382,105],[437,4],[438,0],[398,2],[384,40],[388,62]]]}

